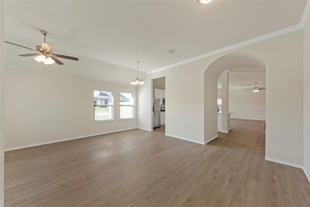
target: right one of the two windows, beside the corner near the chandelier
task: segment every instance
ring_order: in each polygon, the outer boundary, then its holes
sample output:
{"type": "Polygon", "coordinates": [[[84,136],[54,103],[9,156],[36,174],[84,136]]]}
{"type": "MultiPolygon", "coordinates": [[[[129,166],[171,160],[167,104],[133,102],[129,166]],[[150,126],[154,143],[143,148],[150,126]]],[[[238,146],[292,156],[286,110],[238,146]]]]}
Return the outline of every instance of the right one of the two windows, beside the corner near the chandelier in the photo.
{"type": "Polygon", "coordinates": [[[120,119],[134,118],[134,95],[121,92],[119,94],[119,117],[120,119]]]}

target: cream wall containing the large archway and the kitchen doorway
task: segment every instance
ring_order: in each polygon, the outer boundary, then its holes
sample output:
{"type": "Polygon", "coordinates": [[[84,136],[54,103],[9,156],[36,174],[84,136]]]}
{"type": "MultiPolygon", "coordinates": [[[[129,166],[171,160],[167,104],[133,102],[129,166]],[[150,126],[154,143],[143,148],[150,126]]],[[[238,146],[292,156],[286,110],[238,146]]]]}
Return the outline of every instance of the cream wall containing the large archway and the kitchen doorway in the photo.
{"type": "MultiPolygon", "coordinates": [[[[229,51],[249,52],[266,61],[266,158],[293,166],[303,165],[302,48],[303,31],[298,30],[229,51]]],[[[204,72],[229,52],[147,75],[147,84],[138,89],[139,99],[143,97],[138,102],[138,126],[151,129],[149,79],[165,76],[166,133],[203,143],[204,72]]]]}

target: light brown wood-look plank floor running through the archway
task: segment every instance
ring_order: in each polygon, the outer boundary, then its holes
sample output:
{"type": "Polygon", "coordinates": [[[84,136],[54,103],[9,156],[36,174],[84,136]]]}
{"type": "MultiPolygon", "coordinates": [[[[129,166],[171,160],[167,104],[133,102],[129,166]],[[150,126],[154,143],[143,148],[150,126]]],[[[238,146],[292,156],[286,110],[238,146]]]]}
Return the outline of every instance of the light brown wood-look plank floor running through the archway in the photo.
{"type": "Polygon", "coordinates": [[[310,206],[301,169],[265,161],[265,122],[205,146],[130,130],[6,152],[5,206],[310,206]]]}

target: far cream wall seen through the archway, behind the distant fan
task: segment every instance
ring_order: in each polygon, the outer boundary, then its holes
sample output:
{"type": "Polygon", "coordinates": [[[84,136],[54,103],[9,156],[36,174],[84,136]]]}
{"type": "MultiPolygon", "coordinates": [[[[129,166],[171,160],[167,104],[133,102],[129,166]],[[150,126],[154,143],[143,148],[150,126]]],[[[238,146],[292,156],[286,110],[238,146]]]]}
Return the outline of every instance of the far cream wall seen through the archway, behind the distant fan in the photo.
{"type": "Polygon", "coordinates": [[[229,112],[234,112],[230,116],[232,119],[265,121],[265,90],[229,89],[229,112]]]}

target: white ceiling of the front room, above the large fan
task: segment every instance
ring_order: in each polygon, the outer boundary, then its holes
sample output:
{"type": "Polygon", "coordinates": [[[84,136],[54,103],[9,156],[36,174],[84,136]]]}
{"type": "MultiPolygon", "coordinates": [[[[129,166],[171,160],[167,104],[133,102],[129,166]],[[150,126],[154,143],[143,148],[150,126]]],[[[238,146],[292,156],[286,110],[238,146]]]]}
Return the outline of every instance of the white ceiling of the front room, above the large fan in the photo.
{"type": "Polygon", "coordinates": [[[299,23],[306,1],[6,1],[6,40],[145,72],[299,23]],[[166,50],[174,48],[169,54],[166,50]]]}

